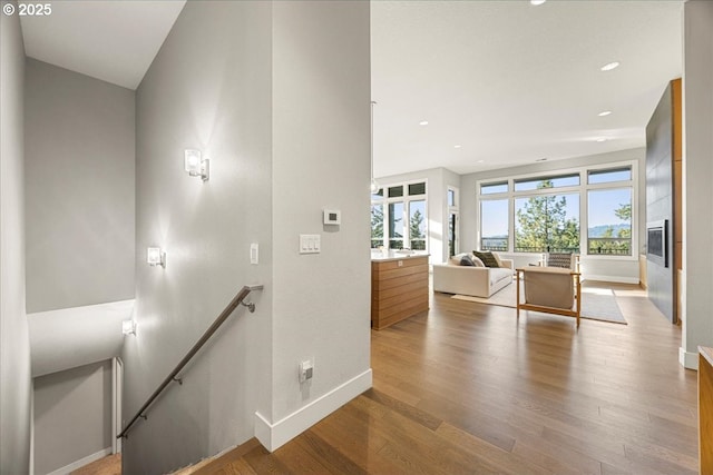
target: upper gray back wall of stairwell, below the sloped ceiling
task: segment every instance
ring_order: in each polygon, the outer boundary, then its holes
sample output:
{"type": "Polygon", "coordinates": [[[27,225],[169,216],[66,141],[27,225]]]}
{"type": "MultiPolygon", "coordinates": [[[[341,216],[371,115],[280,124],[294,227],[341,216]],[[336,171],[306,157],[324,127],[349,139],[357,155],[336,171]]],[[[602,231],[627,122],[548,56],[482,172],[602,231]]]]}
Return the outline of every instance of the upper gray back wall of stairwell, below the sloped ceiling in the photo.
{"type": "Polygon", "coordinates": [[[33,59],[27,311],[134,298],[134,91],[33,59]]]}

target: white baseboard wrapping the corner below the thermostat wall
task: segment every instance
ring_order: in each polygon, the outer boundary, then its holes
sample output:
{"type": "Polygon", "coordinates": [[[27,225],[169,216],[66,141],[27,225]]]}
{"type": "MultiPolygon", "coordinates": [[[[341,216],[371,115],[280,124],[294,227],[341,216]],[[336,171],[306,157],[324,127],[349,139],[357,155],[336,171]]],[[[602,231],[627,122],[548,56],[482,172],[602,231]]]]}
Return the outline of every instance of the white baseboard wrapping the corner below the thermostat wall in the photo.
{"type": "Polygon", "coordinates": [[[273,452],[371,386],[372,373],[369,368],[274,424],[270,423],[262,414],[255,413],[255,437],[266,449],[273,452]]]}

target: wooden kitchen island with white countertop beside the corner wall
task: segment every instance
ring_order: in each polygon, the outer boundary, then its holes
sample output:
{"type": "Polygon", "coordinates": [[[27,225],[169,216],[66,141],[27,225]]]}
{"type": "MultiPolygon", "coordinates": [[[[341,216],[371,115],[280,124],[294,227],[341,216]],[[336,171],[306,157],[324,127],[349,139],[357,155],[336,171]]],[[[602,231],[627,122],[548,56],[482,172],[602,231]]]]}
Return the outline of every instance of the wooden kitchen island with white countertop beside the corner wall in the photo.
{"type": "Polygon", "coordinates": [[[428,255],[372,255],[372,328],[380,330],[426,310],[428,255]]]}

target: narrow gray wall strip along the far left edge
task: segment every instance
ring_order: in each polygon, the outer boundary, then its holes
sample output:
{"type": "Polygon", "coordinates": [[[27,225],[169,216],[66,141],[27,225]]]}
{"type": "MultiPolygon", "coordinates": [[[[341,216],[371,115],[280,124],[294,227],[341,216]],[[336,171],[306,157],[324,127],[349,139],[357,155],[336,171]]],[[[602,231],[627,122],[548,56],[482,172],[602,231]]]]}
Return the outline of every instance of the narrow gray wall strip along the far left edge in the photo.
{"type": "Polygon", "coordinates": [[[30,377],[30,340],[25,317],[23,82],[25,46],[20,20],[18,16],[1,14],[0,473],[2,474],[27,474],[30,469],[32,379],[30,377]]]}

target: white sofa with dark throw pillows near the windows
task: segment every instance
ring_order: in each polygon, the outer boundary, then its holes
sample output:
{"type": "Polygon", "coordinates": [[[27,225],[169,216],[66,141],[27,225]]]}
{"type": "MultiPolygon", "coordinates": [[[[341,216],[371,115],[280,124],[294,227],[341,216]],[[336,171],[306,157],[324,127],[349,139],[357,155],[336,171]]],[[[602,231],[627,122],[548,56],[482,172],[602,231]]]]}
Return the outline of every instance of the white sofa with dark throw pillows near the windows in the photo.
{"type": "Polygon", "coordinates": [[[512,284],[512,259],[500,259],[500,268],[433,264],[433,290],[489,298],[512,284]]]}

